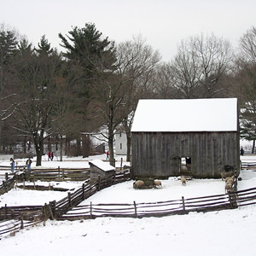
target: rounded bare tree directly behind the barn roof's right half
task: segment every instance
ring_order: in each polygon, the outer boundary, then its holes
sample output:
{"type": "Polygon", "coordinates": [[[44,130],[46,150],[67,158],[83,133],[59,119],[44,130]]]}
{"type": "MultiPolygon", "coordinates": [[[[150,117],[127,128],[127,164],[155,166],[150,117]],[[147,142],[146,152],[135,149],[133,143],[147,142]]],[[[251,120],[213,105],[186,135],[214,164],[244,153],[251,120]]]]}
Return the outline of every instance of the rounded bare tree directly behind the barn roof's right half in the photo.
{"type": "Polygon", "coordinates": [[[183,40],[172,61],[176,90],[184,98],[218,96],[224,90],[220,80],[229,71],[232,58],[230,42],[213,34],[183,40]]]}

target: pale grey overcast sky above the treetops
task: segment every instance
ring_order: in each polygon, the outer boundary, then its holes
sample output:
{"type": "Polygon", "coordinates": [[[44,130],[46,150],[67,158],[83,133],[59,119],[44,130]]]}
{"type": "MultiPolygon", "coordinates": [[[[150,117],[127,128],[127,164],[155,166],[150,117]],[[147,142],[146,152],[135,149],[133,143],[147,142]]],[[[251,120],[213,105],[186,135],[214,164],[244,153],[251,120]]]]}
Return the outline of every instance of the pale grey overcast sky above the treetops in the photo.
{"type": "Polygon", "coordinates": [[[0,23],[15,27],[32,44],[45,34],[61,49],[58,33],[96,24],[116,43],[141,34],[163,61],[171,61],[182,39],[214,33],[236,47],[256,26],[255,0],[0,0],[0,23]]]}

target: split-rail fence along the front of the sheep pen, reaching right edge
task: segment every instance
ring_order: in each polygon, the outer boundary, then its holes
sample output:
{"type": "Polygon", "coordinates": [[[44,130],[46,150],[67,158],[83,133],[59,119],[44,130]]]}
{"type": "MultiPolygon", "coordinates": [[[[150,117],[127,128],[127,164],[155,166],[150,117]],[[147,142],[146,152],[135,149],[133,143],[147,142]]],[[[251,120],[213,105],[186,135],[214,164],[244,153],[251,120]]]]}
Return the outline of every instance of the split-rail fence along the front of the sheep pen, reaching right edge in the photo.
{"type": "Polygon", "coordinates": [[[256,204],[256,188],[229,192],[226,195],[209,195],[173,201],[157,201],[148,203],[119,203],[79,205],[62,214],[59,219],[76,220],[97,217],[143,218],[163,217],[189,212],[211,212],[234,209],[241,206],[256,204]]]}

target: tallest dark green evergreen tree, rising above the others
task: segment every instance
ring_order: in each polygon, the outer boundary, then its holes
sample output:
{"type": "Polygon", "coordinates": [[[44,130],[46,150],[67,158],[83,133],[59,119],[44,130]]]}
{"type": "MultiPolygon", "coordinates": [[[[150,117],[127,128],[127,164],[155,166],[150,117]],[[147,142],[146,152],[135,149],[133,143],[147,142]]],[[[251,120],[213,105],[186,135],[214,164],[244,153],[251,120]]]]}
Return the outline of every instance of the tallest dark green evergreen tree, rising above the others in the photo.
{"type": "Polygon", "coordinates": [[[96,125],[102,124],[99,116],[91,119],[89,108],[92,100],[99,96],[96,89],[102,77],[105,79],[106,73],[111,73],[114,68],[113,42],[102,38],[102,32],[90,23],[86,23],[83,28],[75,26],[68,35],[60,33],[59,37],[61,46],[66,49],[63,56],[67,60],[67,83],[73,88],[72,108],[77,119],[73,123],[76,130],[73,133],[79,139],[81,131],[93,131],[96,125]]]}

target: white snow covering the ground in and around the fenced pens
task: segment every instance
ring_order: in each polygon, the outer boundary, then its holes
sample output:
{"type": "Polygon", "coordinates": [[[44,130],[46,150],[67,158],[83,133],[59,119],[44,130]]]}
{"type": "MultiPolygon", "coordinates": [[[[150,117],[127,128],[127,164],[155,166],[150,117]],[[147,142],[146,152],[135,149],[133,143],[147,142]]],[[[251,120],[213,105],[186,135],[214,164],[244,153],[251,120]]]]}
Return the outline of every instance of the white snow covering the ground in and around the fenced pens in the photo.
{"type": "MultiPolygon", "coordinates": [[[[97,156],[96,159],[105,156],[97,156]]],[[[119,160],[119,159],[118,159],[119,160]]],[[[242,161],[256,161],[243,156],[242,161]]],[[[87,160],[43,161],[43,166],[76,166],[87,160]]],[[[3,164],[2,164],[3,165],[3,164]]],[[[117,165],[118,166],[118,165],[117,165]]],[[[33,166],[32,166],[33,168],[33,166]]],[[[241,171],[238,189],[256,187],[256,172],[241,171]]],[[[116,184],[82,204],[154,202],[224,194],[220,179],[192,179],[182,186],[177,178],[162,181],[162,189],[132,189],[132,181],[116,184]]],[[[61,184],[63,185],[63,184],[61,184]]],[[[73,188],[75,184],[68,184],[73,188]]],[[[0,204],[41,205],[67,192],[14,189],[0,197],[0,204]],[[23,194],[24,192],[24,194],[23,194]],[[61,193],[61,195],[59,195],[61,193]]],[[[59,197],[60,196],[60,197],[59,197]]],[[[0,205],[1,207],[1,205],[0,205]]],[[[207,213],[163,218],[96,218],[84,221],[47,221],[0,241],[6,255],[255,255],[256,205],[207,213]]]]}

